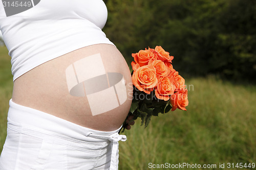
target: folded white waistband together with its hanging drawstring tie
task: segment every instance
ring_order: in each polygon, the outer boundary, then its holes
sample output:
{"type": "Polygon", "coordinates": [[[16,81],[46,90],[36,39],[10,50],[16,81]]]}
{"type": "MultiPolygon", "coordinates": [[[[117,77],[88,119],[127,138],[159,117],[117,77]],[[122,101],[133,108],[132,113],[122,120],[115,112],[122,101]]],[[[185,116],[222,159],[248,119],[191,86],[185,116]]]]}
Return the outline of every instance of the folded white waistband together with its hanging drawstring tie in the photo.
{"type": "Polygon", "coordinates": [[[112,144],[110,170],[114,170],[118,167],[118,141],[126,140],[125,135],[119,135],[117,133],[121,127],[111,132],[97,131],[79,126],[65,119],[61,119],[36,109],[18,105],[12,102],[12,100],[10,100],[9,104],[8,123],[10,125],[15,123],[16,125],[20,125],[22,128],[38,128],[57,133],[59,135],[65,135],[74,138],[75,140],[91,140],[95,142],[110,140],[112,144]]]}

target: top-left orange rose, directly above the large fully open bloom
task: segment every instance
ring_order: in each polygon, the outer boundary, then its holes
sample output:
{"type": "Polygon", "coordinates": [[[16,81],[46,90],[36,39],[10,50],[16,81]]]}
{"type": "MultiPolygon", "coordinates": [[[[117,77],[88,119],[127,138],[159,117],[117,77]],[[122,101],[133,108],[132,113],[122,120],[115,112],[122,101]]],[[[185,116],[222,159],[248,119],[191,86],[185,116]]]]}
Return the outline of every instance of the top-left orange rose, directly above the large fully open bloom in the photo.
{"type": "Polygon", "coordinates": [[[148,48],[148,50],[140,50],[139,53],[132,54],[132,56],[135,63],[139,64],[140,66],[147,65],[148,61],[156,59],[156,56],[153,53],[153,49],[151,48],[148,48]]]}

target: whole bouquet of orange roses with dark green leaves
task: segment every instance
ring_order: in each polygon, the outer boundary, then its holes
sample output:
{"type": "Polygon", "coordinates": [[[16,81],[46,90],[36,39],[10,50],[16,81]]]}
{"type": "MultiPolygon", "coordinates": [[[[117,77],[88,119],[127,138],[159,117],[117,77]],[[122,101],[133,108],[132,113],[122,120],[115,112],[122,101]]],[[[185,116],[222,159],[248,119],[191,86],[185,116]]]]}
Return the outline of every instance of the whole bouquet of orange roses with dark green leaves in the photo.
{"type": "MultiPolygon", "coordinates": [[[[132,56],[134,91],[129,115],[134,116],[133,120],[140,117],[141,126],[145,124],[146,128],[152,116],[177,108],[186,110],[188,100],[185,80],[173,68],[174,57],[161,46],[145,48],[132,56]]],[[[125,120],[123,131],[126,125],[125,120]]]]}

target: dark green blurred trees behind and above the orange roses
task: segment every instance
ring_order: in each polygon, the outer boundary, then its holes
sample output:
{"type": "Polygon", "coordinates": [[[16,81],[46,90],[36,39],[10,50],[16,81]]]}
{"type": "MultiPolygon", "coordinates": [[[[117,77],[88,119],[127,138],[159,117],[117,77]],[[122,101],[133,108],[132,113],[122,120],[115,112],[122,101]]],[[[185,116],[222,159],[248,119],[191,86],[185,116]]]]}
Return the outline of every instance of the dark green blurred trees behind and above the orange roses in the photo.
{"type": "Polygon", "coordinates": [[[161,45],[181,75],[256,74],[256,1],[105,1],[106,35],[131,62],[131,53],[161,45]]]}

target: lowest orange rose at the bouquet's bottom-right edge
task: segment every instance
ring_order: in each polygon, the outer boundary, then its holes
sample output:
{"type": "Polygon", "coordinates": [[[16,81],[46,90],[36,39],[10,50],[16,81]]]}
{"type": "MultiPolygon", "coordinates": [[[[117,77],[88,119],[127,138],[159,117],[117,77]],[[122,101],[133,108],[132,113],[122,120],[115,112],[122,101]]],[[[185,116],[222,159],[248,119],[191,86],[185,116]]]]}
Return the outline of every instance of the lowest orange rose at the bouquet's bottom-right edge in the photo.
{"type": "Polygon", "coordinates": [[[172,104],[172,111],[178,109],[187,110],[185,107],[188,105],[187,89],[182,89],[170,96],[170,104],[172,104]]]}

